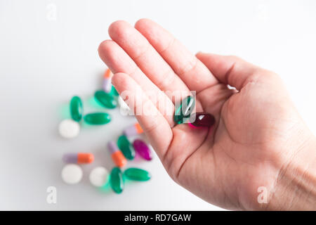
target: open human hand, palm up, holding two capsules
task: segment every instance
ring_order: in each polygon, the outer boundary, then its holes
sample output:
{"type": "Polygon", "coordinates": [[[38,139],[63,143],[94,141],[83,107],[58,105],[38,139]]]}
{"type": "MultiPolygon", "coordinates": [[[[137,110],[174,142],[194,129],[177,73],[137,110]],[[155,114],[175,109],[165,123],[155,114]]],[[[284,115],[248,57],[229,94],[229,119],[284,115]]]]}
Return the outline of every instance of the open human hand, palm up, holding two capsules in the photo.
{"type": "Polygon", "coordinates": [[[114,22],[109,34],[100,58],[117,91],[141,93],[133,97],[153,112],[136,118],[174,181],[230,210],[316,210],[315,136],[274,72],[236,56],[194,55],[147,19],[114,22]],[[164,91],[190,90],[213,127],[176,125],[166,113],[175,99],[164,91]]]}

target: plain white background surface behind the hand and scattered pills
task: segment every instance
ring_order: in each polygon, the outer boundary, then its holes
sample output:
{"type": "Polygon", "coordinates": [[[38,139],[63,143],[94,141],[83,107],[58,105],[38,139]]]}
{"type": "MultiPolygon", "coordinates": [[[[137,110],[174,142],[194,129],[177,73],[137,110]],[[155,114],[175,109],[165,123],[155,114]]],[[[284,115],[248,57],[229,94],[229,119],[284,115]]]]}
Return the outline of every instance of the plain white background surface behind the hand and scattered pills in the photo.
{"type": "Polygon", "coordinates": [[[279,73],[316,134],[316,1],[0,0],[0,210],[218,210],[175,184],[157,157],[129,162],[152,179],[126,184],[121,195],[89,184],[93,167],[113,166],[107,141],[133,124],[119,109],[98,109],[112,122],[83,127],[76,139],[58,134],[72,96],[83,98],[86,113],[95,110],[90,100],[105,70],[97,48],[107,27],[145,17],[192,52],[235,54],[279,73]],[[74,186],[60,179],[70,152],[96,156],[74,186]],[[57,204],[46,202],[48,186],[57,188],[57,204]]]}

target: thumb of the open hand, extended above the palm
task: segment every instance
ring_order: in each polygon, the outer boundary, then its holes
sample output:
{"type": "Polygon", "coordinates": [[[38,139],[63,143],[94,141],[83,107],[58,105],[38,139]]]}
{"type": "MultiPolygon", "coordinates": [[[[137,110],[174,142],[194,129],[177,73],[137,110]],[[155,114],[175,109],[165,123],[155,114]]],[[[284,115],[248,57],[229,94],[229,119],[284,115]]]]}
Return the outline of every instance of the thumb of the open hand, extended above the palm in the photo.
{"type": "Polygon", "coordinates": [[[242,89],[256,72],[262,70],[236,56],[220,56],[211,53],[197,53],[197,58],[206,65],[212,74],[223,84],[242,89]]]}

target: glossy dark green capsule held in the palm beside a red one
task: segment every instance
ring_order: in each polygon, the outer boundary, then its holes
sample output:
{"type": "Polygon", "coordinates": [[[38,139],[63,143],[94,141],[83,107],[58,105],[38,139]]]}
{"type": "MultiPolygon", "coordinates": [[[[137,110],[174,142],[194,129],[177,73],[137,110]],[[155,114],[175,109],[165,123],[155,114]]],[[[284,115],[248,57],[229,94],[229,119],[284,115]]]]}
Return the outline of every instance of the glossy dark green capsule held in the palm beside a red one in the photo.
{"type": "Polygon", "coordinates": [[[176,124],[182,124],[190,118],[190,115],[195,108],[195,98],[193,96],[187,96],[181,101],[179,108],[175,111],[173,120],[176,124]]]}

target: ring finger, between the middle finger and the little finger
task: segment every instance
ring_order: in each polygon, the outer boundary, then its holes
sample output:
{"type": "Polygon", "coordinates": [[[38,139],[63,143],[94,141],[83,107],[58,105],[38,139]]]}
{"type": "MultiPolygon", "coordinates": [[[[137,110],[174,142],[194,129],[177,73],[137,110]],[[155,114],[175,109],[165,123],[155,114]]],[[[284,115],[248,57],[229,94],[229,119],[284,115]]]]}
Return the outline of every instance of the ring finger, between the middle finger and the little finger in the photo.
{"type": "Polygon", "coordinates": [[[131,78],[142,87],[148,98],[172,126],[174,110],[172,101],[144,75],[129,55],[112,40],[103,41],[98,51],[100,58],[113,73],[124,72],[131,76],[131,78]]]}

